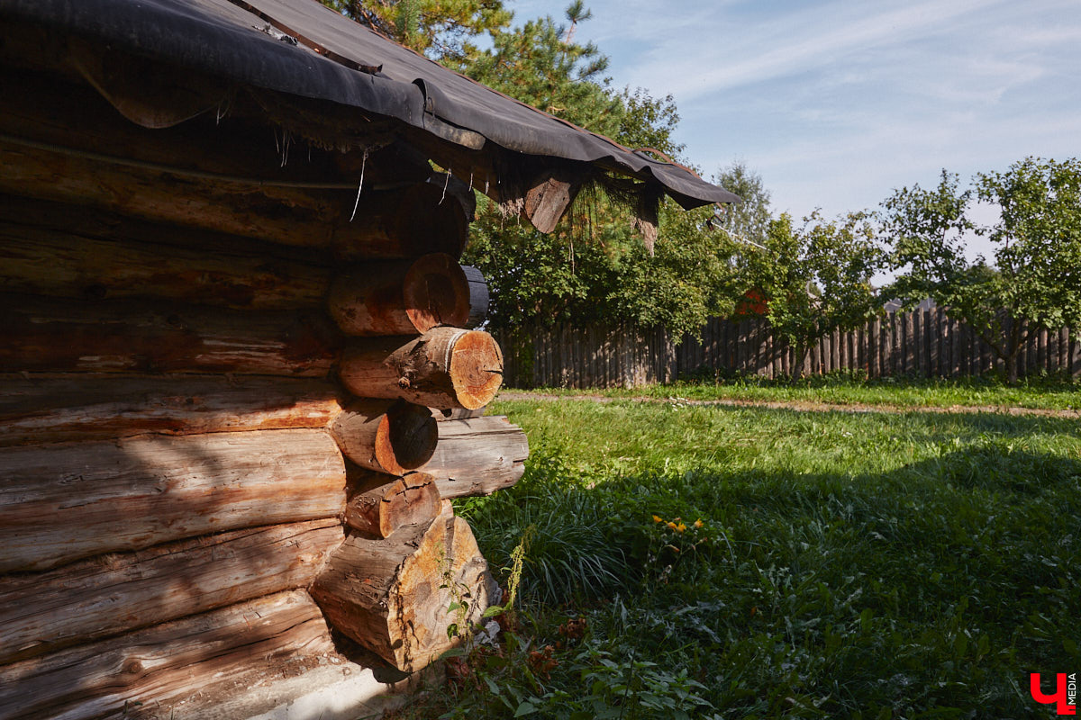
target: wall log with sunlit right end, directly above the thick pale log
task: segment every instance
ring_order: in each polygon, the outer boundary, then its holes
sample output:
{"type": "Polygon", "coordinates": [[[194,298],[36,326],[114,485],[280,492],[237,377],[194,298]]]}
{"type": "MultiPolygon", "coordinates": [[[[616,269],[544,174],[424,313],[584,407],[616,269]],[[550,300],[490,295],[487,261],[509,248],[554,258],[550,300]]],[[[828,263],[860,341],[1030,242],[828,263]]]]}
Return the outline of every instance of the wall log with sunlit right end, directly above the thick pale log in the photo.
{"type": "Polygon", "coordinates": [[[255,376],[0,376],[0,447],[326,427],[342,412],[339,392],[326,380],[255,376]]]}

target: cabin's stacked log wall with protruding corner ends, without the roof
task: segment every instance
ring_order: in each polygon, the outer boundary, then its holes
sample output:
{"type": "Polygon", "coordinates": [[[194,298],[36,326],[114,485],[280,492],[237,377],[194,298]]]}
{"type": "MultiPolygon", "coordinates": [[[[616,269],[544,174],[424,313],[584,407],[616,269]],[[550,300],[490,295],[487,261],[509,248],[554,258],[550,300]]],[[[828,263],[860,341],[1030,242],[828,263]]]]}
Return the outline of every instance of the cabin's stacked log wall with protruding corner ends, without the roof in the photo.
{"type": "Polygon", "coordinates": [[[444,498],[528,452],[456,431],[503,371],[466,209],[264,184],[236,126],[208,153],[62,86],[0,117],[0,718],[210,717],[332,628],[424,667],[494,592],[444,498]]]}

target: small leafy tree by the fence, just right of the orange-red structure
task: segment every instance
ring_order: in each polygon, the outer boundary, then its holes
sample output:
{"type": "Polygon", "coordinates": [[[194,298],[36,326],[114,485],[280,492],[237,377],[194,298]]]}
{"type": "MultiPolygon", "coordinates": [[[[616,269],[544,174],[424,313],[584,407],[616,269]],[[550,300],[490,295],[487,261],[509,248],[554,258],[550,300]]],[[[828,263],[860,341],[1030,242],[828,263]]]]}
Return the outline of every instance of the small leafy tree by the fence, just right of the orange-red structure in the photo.
{"type": "Polygon", "coordinates": [[[766,297],[770,324],[796,355],[799,379],[814,343],[851,330],[880,312],[870,277],[882,264],[863,213],[825,221],[816,210],[793,228],[786,213],[771,220],[758,253],[747,253],[750,276],[766,297]]]}

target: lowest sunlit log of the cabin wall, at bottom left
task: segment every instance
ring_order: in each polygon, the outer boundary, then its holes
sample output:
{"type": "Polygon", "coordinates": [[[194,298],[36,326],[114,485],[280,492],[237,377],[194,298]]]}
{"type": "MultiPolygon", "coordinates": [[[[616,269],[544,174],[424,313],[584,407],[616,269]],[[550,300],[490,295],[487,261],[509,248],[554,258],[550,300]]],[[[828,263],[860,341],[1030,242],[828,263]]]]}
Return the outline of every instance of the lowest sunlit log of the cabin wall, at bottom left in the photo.
{"type": "Polygon", "coordinates": [[[290,590],[0,667],[0,718],[212,717],[200,699],[215,689],[334,655],[319,608],[290,590]]]}

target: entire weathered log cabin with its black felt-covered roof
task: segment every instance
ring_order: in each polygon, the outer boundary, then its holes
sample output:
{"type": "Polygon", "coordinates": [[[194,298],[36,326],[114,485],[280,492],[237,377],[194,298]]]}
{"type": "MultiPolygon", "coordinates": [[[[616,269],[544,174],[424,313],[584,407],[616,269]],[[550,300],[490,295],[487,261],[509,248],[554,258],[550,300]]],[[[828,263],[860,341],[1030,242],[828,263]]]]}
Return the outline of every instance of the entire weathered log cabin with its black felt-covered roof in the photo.
{"type": "Polygon", "coordinates": [[[396,702],[529,453],[473,192],[735,200],[313,0],[0,0],[0,719],[396,702]]]}

